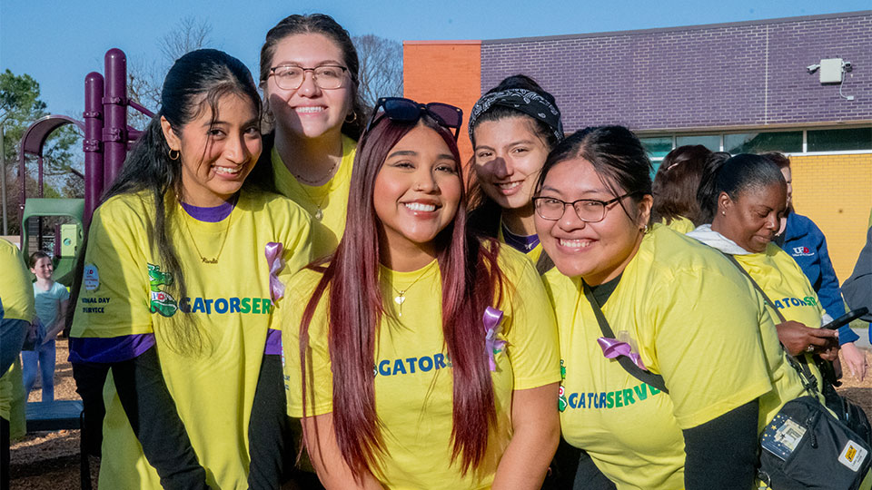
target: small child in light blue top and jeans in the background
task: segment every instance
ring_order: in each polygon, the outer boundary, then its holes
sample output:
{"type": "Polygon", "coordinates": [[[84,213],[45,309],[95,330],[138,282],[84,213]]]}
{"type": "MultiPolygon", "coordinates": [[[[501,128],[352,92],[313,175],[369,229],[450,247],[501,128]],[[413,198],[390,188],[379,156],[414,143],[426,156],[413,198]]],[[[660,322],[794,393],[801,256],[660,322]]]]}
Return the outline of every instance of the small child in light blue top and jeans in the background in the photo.
{"type": "Polygon", "coordinates": [[[24,350],[21,353],[25,369],[25,393],[30,394],[36,381],[37,365],[42,374],[42,401],[54,400],[54,338],[64,329],[64,314],[70,293],[63,284],[52,280],[54,265],[51,257],[43,251],[34,252],[30,256],[30,271],[36,276],[34,282],[34,299],[36,316],[45,326],[45,337],[42,344],[34,350],[24,350]]]}

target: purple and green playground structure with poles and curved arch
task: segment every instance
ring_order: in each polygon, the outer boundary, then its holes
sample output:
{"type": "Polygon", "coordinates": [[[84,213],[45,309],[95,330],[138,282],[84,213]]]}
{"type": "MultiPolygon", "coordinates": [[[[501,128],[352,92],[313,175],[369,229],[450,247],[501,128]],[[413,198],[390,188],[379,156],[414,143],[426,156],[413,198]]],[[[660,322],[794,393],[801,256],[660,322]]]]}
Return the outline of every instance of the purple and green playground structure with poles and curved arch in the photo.
{"type": "Polygon", "coordinates": [[[100,195],[118,175],[127,151],[142,134],[127,125],[127,108],[152,117],[154,113],[127,97],[127,58],[113,48],[104,56],[104,73],[84,77],[84,113],[79,121],[64,115],[48,115],[34,122],[21,138],[18,152],[21,250],[25,256],[40,250],[43,243],[43,218],[62,217],[71,223],[54,227],[54,280],[67,286],[84,234],[91,222],[100,195]],[[52,132],[74,124],[84,132],[84,199],[46,199],[43,197],[43,150],[52,132]],[[25,172],[28,156],[37,159],[37,197],[27,198],[25,172]]]}

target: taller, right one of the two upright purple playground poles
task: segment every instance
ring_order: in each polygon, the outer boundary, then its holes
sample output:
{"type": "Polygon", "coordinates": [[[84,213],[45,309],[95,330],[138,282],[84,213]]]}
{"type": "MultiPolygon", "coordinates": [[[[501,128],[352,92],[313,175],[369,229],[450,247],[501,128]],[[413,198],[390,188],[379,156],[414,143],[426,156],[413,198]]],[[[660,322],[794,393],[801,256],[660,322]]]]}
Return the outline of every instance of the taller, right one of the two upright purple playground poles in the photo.
{"type": "Polygon", "coordinates": [[[103,99],[103,184],[112,185],[127,156],[127,58],[110,49],[105,56],[106,93],[103,99]]]}

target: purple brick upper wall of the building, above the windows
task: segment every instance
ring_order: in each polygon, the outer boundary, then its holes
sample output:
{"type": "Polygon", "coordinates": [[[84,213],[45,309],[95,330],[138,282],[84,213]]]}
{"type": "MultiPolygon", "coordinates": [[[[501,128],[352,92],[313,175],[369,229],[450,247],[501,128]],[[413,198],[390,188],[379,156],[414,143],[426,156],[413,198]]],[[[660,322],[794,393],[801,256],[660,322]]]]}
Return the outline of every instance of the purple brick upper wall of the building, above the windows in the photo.
{"type": "Polygon", "coordinates": [[[526,73],[553,93],[567,131],[761,128],[872,121],[872,11],[483,41],[481,91],[526,73]],[[822,85],[806,66],[854,66],[822,85]]]}

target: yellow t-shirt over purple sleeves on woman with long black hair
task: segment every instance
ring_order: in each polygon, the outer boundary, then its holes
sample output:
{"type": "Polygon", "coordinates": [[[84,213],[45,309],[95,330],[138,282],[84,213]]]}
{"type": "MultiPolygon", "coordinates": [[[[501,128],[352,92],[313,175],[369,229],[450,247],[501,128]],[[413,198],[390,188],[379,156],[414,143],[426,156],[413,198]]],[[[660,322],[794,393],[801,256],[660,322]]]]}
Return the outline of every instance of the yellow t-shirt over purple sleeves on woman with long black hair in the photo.
{"type": "MultiPolygon", "coordinates": [[[[178,204],[170,239],[183,264],[187,298],[173,298],[156,243],[154,204],[146,193],[125,194],[94,212],[85,274],[71,335],[114,338],[154,334],[161,370],[207,483],[248,488],[248,425],[254,387],[272,321],[264,248],[281,242],[284,271],[311,259],[310,218],[281,196],[243,191],[220,222],[194,220],[178,204]],[[229,220],[229,221],[228,221],[229,220]],[[222,249],[223,247],[223,249],[222,249]],[[197,250],[200,250],[199,252],[197,250]],[[219,253],[220,251],[220,253],[219,253]],[[218,256],[217,264],[203,263],[218,256]],[[180,354],[167,338],[193,315],[202,353],[180,354]]],[[[292,295],[286,291],[286,295],[292,295]]],[[[161,488],[154,467],[124,414],[110,374],[105,388],[101,488],[161,488]]]]}

